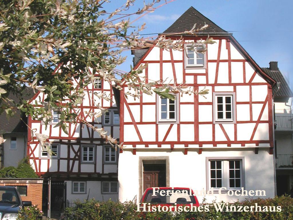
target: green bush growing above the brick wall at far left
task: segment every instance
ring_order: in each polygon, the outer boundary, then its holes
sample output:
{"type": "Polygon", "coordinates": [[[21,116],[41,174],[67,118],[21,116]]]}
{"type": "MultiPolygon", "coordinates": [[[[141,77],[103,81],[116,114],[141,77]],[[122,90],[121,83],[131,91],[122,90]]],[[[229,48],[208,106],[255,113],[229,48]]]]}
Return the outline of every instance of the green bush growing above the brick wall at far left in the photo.
{"type": "Polygon", "coordinates": [[[0,170],[0,178],[38,178],[28,158],[22,159],[17,168],[4,167],[0,170]]]}

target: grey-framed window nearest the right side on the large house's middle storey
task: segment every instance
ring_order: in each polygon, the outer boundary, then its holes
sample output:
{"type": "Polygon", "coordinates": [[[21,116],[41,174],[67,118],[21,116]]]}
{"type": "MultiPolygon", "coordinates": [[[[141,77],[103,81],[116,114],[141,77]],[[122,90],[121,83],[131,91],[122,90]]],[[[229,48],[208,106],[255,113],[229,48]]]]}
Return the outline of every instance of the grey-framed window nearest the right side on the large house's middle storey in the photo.
{"type": "Polygon", "coordinates": [[[214,123],[236,123],[234,92],[214,92],[214,123]]]}

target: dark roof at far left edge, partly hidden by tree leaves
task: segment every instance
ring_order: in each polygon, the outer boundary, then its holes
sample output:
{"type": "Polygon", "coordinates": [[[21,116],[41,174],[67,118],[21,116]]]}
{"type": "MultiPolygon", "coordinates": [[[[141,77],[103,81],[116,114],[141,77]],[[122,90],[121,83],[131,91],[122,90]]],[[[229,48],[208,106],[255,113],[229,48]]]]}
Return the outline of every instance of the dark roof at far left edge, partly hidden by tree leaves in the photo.
{"type": "MultiPolygon", "coordinates": [[[[21,98],[28,100],[33,97],[34,93],[33,90],[27,88],[24,90],[23,95],[21,98]]],[[[8,99],[15,100],[18,103],[19,96],[16,94],[10,93],[8,99]]],[[[13,117],[7,118],[6,112],[4,111],[0,115],[0,134],[11,133],[11,132],[27,132],[27,127],[25,123],[21,120],[21,118],[26,122],[27,118],[24,114],[21,113],[20,110],[16,109],[16,113],[13,117]]]]}

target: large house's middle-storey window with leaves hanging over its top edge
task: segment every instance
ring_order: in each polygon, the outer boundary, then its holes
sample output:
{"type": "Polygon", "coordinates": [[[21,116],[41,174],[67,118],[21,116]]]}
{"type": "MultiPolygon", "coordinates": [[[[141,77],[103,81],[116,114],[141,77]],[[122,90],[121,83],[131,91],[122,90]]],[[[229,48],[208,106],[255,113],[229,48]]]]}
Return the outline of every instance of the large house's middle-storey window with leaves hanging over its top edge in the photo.
{"type": "Polygon", "coordinates": [[[157,95],[157,122],[178,122],[178,95],[176,100],[167,99],[157,95]]]}

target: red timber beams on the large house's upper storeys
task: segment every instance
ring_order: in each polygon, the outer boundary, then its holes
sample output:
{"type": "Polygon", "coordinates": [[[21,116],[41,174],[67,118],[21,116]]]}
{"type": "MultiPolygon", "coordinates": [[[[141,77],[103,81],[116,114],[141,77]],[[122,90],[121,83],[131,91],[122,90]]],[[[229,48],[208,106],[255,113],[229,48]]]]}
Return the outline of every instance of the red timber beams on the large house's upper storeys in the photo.
{"type": "MultiPolygon", "coordinates": [[[[173,36],[170,37],[173,40],[179,39],[179,37],[173,36]]],[[[185,40],[200,40],[205,39],[205,37],[191,37],[191,36],[185,36],[183,37],[185,40]]],[[[189,145],[198,145],[199,147],[199,151],[198,153],[201,154],[202,153],[202,149],[204,149],[204,145],[212,145],[214,147],[217,147],[217,145],[221,145],[221,144],[225,144],[227,147],[231,147],[232,144],[238,144],[239,146],[245,147],[246,145],[254,145],[255,146],[255,153],[258,153],[258,146],[260,144],[269,144],[269,148],[270,148],[270,154],[272,154],[272,149],[273,149],[273,123],[272,123],[272,86],[275,84],[275,81],[270,78],[268,75],[266,75],[261,68],[255,63],[255,61],[248,55],[248,53],[241,47],[241,45],[239,45],[239,43],[232,37],[232,36],[223,36],[223,37],[219,37],[219,36],[213,36],[214,40],[219,40],[219,44],[218,44],[218,52],[217,52],[217,59],[209,59],[208,57],[208,53],[206,53],[206,59],[207,59],[207,65],[206,65],[206,69],[205,72],[198,72],[198,73],[190,73],[190,71],[186,71],[185,66],[184,66],[184,53],[182,52],[182,60],[174,60],[174,54],[173,51],[171,50],[170,53],[170,59],[165,59],[163,60],[163,49],[159,49],[159,54],[158,57],[159,59],[154,59],[154,60],[145,60],[145,58],[149,55],[149,53],[151,52],[152,48],[149,48],[149,50],[142,56],[141,60],[135,65],[135,68],[138,68],[140,65],[146,65],[146,69],[145,69],[145,76],[146,76],[146,81],[148,81],[149,79],[151,79],[151,72],[150,72],[150,68],[149,65],[153,64],[153,63],[158,63],[159,64],[159,70],[158,70],[158,74],[160,77],[160,80],[163,81],[163,64],[164,63],[170,63],[171,64],[171,70],[172,70],[172,75],[173,75],[173,79],[175,79],[176,81],[176,68],[175,65],[176,63],[181,63],[183,70],[183,82],[185,82],[185,79],[187,76],[193,76],[193,83],[190,83],[190,81],[188,81],[188,83],[186,83],[187,86],[191,86],[194,87],[195,90],[198,90],[200,87],[210,87],[210,92],[217,92],[215,91],[215,87],[230,87],[232,88],[232,90],[230,89],[229,91],[226,92],[234,92],[235,96],[237,96],[237,86],[247,86],[249,88],[249,100],[247,101],[237,101],[236,100],[236,106],[237,105],[249,105],[249,111],[247,112],[248,116],[248,120],[237,120],[236,119],[236,123],[233,124],[234,127],[234,135],[231,136],[231,134],[229,135],[228,132],[226,131],[225,128],[225,124],[221,124],[221,123],[213,123],[212,121],[200,121],[200,115],[199,115],[199,106],[202,105],[209,105],[212,106],[212,101],[199,101],[199,97],[197,95],[194,95],[193,101],[181,101],[181,97],[179,97],[179,103],[180,106],[184,106],[186,105],[193,105],[194,106],[194,112],[193,112],[193,120],[190,121],[180,121],[180,114],[179,114],[179,123],[178,124],[169,124],[168,128],[166,128],[166,133],[163,135],[163,138],[161,139],[161,141],[159,141],[159,124],[156,122],[156,120],[154,121],[143,121],[143,115],[148,114],[148,112],[144,112],[143,110],[143,106],[147,106],[147,105],[152,105],[152,106],[156,106],[156,102],[145,102],[143,97],[140,97],[139,102],[131,102],[131,101],[127,101],[127,99],[125,99],[123,91],[120,92],[120,140],[124,143],[124,145],[132,145],[132,148],[136,148],[133,149],[133,153],[136,153],[137,150],[137,145],[144,145],[145,147],[148,147],[149,145],[157,145],[157,147],[161,147],[162,145],[170,145],[171,150],[174,149],[174,145],[182,145],[184,148],[184,154],[188,153],[188,146],[189,145]],[[223,42],[225,42],[224,45],[223,42]],[[235,59],[235,58],[231,58],[231,44],[233,44],[233,46],[240,52],[240,54],[243,55],[243,59],[235,59]],[[227,58],[226,59],[221,59],[221,51],[223,50],[223,47],[227,50],[227,58]],[[219,82],[219,66],[220,63],[222,62],[226,62],[227,66],[228,66],[228,81],[227,83],[223,83],[223,82],[219,82]],[[243,72],[239,72],[239,74],[243,74],[243,82],[232,82],[232,67],[231,64],[232,62],[237,62],[240,63],[240,65],[243,67],[243,72]],[[215,79],[213,82],[209,82],[209,63],[216,63],[216,71],[215,71],[215,79]],[[246,65],[249,64],[251,65],[255,71],[254,73],[251,75],[250,79],[247,79],[247,77],[249,76],[247,74],[247,70],[246,70],[246,65]],[[206,83],[203,82],[198,82],[197,81],[197,77],[198,76],[205,76],[206,79],[206,83]],[[261,76],[264,81],[263,82],[259,82],[256,79],[256,77],[261,76]],[[253,96],[252,96],[252,90],[253,90],[253,86],[267,86],[267,95],[265,97],[264,100],[261,101],[253,101],[253,96]],[[255,104],[259,104],[261,105],[261,110],[260,113],[257,117],[257,119],[255,119],[255,112],[253,112],[253,105],[255,104]],[[125,107],[124,107],[125,106],[125,107]],[[138,114],[138,112],[133,112],[131,111],[130,106],[139,106],[139,120],[135,120],[137,119],[137,117],[134,117],[134,114],[138,114]],[[266,107],[267,106],[267,107],[266,107]],[[264,115],[264,110],[267,109],[266,111],[268,111],[268,119],[266,120],[261,120],[262,116],[264,115]],[[124,116],[125,116],[125,111],[127,111],[127,114],[130,115],[131,121],[125,121],[124,120],[124,116]],[[253,123],[253,129],[251,131],[251,135],[249,138],[247,138],[246,140],[242,140],[239,139],[237,137],[237,125],[239,124],[246,124],[246,123],[253,123]],[[255,133],[258,129],[258,126],[260,124],[266,123],[268,124],[268,131],[269,131],[269,139],[265,139],[265,140],[255,140],[255,133]],[[194,139],[191,141],[184,141],[181,139],[180,137],[180,133],[182,133],[181,131],[181,126],[182,125],[193,125],[194,126],[194,139]],[[131,135],[131,134],[127,134],[124,133],[125,132],[125,125],[134,125],[134,129],[136,131],[136,135],[138,137],[138,141],[125,141],[125,136],[127,135],[131,135]],[[154,129],[155,129],[155,138],[154,140],[152,140],[152,138],[149,138],[151,140],[149,140],[148,138],[142,138],[142,134],[139,130],[139,126],[140,125],[154,125],[154,129]],[[200,125],[210,125],[212,126],[212,139],[210,141],[200,141],[200,134],[199,134],[199,126],[200,125]],[[222,131],[224,137],[226,138],[226,140],[224,141],[217,141],[216,139],[216,126],[219,126],[220,130],[222,131]],[[168,137],[171,133],[171,130],[173,128],[176,127],[176,133],[177,133],[177,140],[174,141],[168,141],[168,137]]],[[[209,50],[209,46],[207,45],[207,49],[209,50]]],[[[168,53],[168,52],[166,52],[168,53]]],[[[242,77],[242,76],[241,76],[242,77]]],[[[179,85],[180,82],[177,82],[177,85],[179,85]]],[[[123,87],[127,87],[127,85],[123,85],[123,87]]],[[[224,92],[224,91],[223,91],[224,92]]],[[[157,106],[156,106],[157,109],[157,106]]],[[[237,115],[237,108],[235,114],[237,115]]],[[[157,112],[155,113],[157,114],[157,112]]],[[[214,116],[213,116],[214,117],[214,116]]],[[[172,133],[174,134],[174,133],[172,133]]],[[[175,147],[176,148],[176,147],[175,147]]],[[[121,151],[122,153],[122,151],[121,151]]]]}

